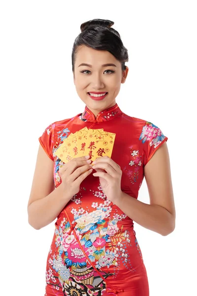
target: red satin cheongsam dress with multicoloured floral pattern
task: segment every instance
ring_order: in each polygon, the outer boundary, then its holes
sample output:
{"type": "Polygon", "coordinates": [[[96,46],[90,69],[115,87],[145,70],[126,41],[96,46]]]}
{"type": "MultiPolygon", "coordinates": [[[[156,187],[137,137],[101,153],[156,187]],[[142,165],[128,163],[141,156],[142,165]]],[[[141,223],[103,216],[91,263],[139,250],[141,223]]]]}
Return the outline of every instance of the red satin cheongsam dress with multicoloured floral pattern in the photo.
{"type": "MultiPolygon", "coordinates": [[[[55,151],[70,133],[87,127],[116,133],[111,158],[121,166],[121,189],[137,198],[144,166],[167,141],[153,123],[131,117],[116,104],[97,117],[87,106],[50,124],[39,138],[54,161],[54,184],[64,162],[55,151]]],[[[94,171],[93,171],[94,172],[94,171]]],[[[92,173],[57,217],[46,266],[45,296],[149,296],[146,268],[133,221],[107,199],[92,173]]]]}

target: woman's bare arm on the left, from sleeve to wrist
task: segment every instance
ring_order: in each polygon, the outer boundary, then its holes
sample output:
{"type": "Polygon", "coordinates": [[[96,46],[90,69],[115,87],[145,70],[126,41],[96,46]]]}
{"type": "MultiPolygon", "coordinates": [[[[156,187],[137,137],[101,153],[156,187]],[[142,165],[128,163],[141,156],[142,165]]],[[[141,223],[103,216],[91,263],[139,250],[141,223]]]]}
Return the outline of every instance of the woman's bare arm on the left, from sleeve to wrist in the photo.
{"type": "Polygon", "coordinates": [[[40,145],[28,203],[28,221],[35,229],[53,222],[72,197],[63,190],[63,183],[55,189],[53,169],[54,162],[40,145]]]}

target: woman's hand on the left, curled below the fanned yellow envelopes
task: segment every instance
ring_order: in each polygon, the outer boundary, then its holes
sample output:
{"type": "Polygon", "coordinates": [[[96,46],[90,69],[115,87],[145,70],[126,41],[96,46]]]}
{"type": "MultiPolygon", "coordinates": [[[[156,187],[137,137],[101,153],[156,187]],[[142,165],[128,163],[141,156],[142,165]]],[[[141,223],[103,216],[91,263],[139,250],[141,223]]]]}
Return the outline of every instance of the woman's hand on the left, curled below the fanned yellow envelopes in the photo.
{"type": "Polygon", "coordinates": [[[81,182],[93,171],[91,160],[88,158],[89,156],[73,158],[59,170],[65,191],[70,198],[79,192],[81,182]]]}

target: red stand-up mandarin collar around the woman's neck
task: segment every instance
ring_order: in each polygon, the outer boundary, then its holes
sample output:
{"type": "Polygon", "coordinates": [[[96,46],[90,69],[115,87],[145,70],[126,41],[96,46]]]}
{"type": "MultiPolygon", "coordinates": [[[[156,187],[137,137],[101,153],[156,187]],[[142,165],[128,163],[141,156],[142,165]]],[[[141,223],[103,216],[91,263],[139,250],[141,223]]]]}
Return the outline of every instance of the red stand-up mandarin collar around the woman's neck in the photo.
{"type": "Polygon", "coordinates": [[[79,118],[83,121],[101,122],[109,121],[111,119],[121,116],[122,114],[123,112],[120,110],[118,104],[116,103],[114,106],[100,111],[97,117],[95,118],[94,113],[90,111],[90,109],[88,109],[86,105],[84,112],[80,113],[79,118]]]}

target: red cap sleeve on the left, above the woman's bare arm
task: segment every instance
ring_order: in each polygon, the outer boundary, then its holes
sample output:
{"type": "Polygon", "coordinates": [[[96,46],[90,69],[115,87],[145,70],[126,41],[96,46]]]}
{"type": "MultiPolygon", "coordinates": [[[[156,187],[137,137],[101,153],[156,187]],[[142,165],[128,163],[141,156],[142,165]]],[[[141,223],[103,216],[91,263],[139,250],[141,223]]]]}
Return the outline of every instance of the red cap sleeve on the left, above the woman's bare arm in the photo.
{"type": "Polygon", "coordinates": [[[42,136],[38,138],[40,145],[46,152],[46,154],[54,160],[53,147],[54,147],[54,130],[55,123],[51,123],[43,132],[42,136]]]}

